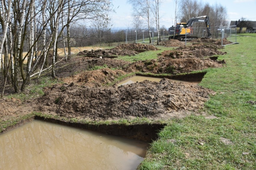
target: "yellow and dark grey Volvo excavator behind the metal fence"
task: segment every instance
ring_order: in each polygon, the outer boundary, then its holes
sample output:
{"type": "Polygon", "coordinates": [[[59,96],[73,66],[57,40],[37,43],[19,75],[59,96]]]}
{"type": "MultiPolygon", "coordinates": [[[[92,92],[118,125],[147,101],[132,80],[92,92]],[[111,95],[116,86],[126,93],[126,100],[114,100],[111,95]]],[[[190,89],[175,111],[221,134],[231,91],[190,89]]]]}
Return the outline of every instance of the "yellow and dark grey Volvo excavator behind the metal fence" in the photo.
{"type": "Polygon", "coordinates": [[[210,22],[209,22],[209,16],[199,16],[199,17],[193,17],[188,20],[187,23],[181,22],[177,23],[177,25],[174,27],[170,27],[168,32],[169,32],[169,40],[170,39],[177,39],[179,41],[184,41],[185,38],[187,40],[193,40],[197,39],[197,36],[193,36],[193,28],[192,25],[194,22],[204,22],[206,23],[206,28],[207,28],[207,37],[202,37],[202,38],[210,38],[211,33],[210,33],[210,22]],[[205,18],[205,19],[203,19],[205,18]],[[187,31],[186,31],[187,28],[187,31]]]}

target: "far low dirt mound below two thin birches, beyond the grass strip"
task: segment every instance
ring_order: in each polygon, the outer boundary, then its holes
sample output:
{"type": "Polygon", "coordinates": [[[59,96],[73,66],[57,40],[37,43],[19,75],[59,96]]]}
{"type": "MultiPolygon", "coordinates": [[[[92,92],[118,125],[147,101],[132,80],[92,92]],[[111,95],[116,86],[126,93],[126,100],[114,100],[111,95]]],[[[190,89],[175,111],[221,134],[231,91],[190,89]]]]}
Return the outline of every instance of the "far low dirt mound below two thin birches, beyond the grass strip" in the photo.
{"type": "Polygon", "coordinates": [[[121,44],[116,46],[113,49],[118,49],[118,50],[145,50],[145,51],[149,51],[149,50],[159,50],[158,48],[156,48],[154,45],[150,45],[150,44],[140,44],[140,43],[132,43],[132,44],[121,44]]]}

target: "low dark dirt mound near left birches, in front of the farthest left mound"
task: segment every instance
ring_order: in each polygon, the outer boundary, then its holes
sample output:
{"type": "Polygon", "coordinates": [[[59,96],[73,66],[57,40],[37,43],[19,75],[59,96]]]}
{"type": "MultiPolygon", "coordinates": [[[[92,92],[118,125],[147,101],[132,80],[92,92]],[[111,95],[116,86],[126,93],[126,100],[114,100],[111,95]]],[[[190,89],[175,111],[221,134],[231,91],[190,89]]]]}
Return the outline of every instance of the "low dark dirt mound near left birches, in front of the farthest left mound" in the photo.
{"type": "Polygon", "coordinates": [[[118,55],[121,55],[121,56],[125,56],[125,55],[128,55],[128,56],[132,56],[132,55],[136,55],[136,54],[139,54],[139,52],[137,51],[131,51],[131,50],[126,50],[126,49],[99,49],[99,50],[91,50],[91,51],[88,51],[88,50],[84,50],[84,51],[81,51],[79,52],[77,55],[78,56],[95,56],[95,57],[99,57],[99,56],[118,56],[118,55]]]}

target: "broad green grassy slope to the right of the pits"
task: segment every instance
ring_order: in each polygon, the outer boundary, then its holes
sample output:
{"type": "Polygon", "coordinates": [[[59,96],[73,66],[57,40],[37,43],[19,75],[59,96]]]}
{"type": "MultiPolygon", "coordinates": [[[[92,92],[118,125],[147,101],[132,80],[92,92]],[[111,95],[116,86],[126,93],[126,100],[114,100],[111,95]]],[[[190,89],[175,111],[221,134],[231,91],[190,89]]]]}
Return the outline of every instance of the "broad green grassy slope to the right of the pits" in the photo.
{"type": "Polygon", "coordinates": [[[256,100],[256,38],[237,41],[219,58],[227,67],[208,69],[200,84],[217,92],[204,111],[218,119],[192,115],[170,120],[139,169],[256,169],[256,107],[247,103],[256,100]],[[221,137],[233,145],[225,145],[221,137]]]}

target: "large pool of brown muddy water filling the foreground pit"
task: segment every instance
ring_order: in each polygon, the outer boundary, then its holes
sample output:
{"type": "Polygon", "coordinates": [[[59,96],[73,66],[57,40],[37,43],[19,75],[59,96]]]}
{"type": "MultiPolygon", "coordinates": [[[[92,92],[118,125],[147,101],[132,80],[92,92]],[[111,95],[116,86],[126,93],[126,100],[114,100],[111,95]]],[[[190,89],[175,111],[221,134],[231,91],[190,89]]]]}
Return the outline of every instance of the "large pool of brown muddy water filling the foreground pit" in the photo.
{"type": "Polygon", "coordinates": [[[136,169],[148,144],[39,120],[0,135],[0,169],[136,169]]]}

